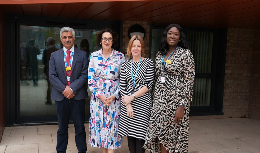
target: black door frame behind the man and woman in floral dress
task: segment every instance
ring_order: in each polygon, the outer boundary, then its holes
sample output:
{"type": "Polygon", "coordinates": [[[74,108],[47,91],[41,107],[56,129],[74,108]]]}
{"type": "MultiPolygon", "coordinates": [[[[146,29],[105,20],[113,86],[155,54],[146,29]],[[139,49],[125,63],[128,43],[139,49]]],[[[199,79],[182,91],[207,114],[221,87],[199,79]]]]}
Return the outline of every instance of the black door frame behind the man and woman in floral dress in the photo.
{"type": "MultiPolygon", "coordinates": [[[[23,123],[46,123],[57,122],[57,116],[35,116],[20,117],[20,70],[19,70],[19,46],[20,46],[20,25],[45,26],[45,27],[71,27],[75,29],[102,29],[109,27],[119,35],[122,33],[122,21],[104,21],[60,17],[43,17],[31,15],[7,14],[7,118],[6,124],[23,123]]],[[[115,48],[119,50],[120,46],[115,48]]],[[[86,114],[85,121],[89,120],[86,114]]]]}

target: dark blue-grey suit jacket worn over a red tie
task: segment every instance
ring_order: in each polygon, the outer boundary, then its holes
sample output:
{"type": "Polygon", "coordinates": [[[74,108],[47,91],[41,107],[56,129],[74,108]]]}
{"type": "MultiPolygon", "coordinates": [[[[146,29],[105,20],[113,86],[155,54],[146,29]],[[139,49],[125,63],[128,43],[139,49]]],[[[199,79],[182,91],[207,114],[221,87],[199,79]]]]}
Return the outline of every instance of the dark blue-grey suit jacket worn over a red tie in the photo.
{"type": "MultiPolygon", "coordinates": [[[[75,48],[71,70],[70,87],[74,91],[74,99],[81,100],[88,97],[85,83],[88,80],[89,60],[87,52],[75,48]]],[[[68,85],[63,48],[59,49],[50,56],[49,62],[49,80],[53,85],[51,91],[51,99],[61,101],[64,99],[62,92],[65,85],[68,85]]]]}

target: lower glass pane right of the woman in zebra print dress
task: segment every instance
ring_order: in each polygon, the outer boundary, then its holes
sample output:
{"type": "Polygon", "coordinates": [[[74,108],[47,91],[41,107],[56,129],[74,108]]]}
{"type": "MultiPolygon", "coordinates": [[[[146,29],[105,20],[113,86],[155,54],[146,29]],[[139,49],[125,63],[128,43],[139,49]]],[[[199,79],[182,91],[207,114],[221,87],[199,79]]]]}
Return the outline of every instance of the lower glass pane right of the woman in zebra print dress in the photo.
{"type": "Polygon", "coordinates": [[[191,106],[210,106],[211,79],[195,79],[191,106]]]}

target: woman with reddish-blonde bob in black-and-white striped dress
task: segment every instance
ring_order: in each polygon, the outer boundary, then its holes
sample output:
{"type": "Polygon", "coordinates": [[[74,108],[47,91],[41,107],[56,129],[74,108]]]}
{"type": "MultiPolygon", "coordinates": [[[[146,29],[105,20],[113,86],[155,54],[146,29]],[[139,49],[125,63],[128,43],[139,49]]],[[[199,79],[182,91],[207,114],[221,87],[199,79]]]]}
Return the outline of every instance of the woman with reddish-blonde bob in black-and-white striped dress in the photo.
{"type": "Polygon", "coordinates": [[[146,130],[151,114],[154,62],[144,58],[145,45],[134,35],[127,53],[132,58],[122,64],[120,93],[122,97],[118,135],[127,136],[130,153],[144,153],[146,130]]]}

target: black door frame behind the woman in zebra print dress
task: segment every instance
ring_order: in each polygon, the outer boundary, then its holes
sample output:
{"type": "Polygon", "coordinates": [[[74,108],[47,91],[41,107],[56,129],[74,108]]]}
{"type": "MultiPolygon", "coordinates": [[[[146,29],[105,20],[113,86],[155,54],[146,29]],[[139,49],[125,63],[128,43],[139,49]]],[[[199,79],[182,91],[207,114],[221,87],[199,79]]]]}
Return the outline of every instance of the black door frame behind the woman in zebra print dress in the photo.
{"type": "MultiPolygon", "coordinates": [[[[168,25],[150,23],[150,40],[149,40],[149,58],[151,58],[151,42],[153,29],[165,29],[168,25]]],[[[195,78],[211,78],[210,106],[193,106],[190,108],[190,116],[204,115],[223,115],[223,92],[226,63],[226,45],[227,45],[227,28],[198,28],[182,27],[184,34],[189,31],[213,32],[213,50],[212,50],[212,73],[198,74],[195,72],[195,78]]]]}

